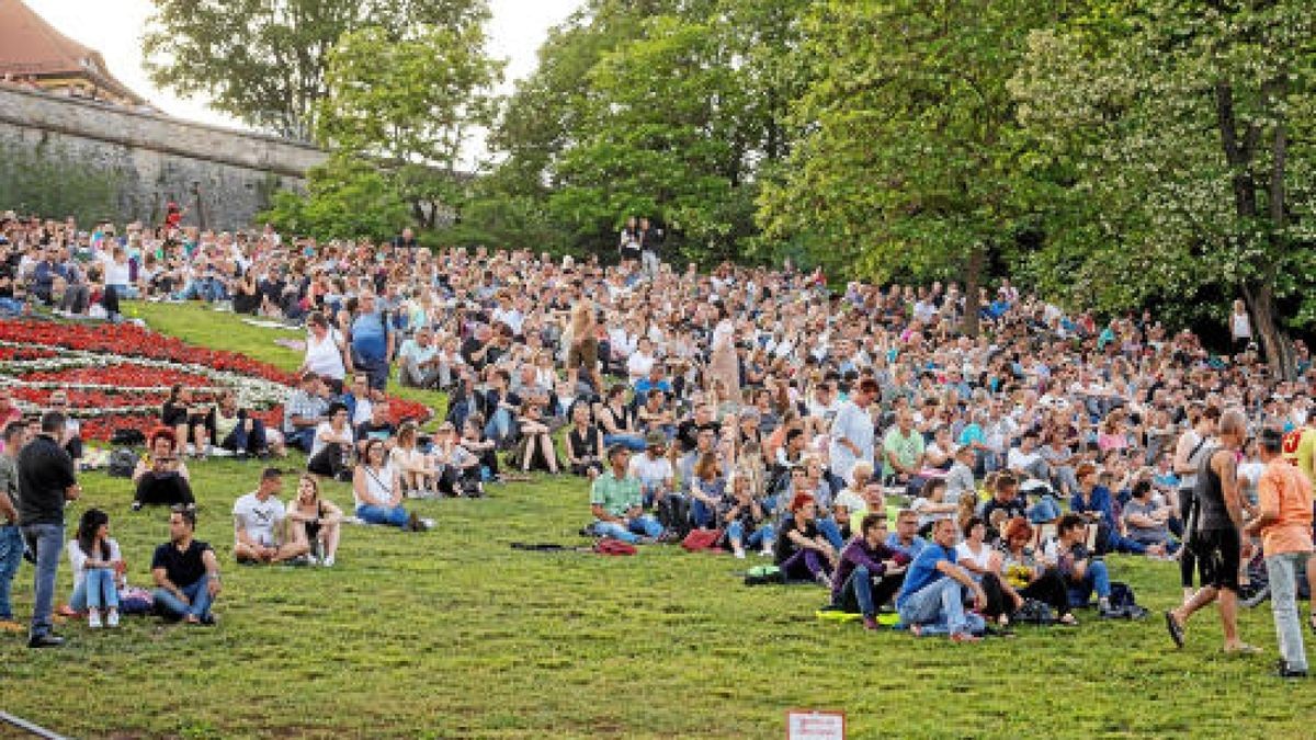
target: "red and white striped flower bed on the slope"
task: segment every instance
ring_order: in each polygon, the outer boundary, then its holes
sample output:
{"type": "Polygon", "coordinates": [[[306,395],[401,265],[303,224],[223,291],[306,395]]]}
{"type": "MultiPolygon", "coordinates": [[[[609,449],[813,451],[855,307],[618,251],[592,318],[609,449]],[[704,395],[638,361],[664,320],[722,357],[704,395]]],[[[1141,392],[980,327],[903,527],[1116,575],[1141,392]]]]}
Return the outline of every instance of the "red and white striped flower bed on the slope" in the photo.
{"type": "MultiPolygon", "coordinates": [[[[134,324],[54,324],[0,320],[0,386],[25,412],[49,406],[63,390],[84,438],[108,440],[114,429],[143,433],[175,384],[200,400],[234,390],[238,403],[278,428],[293,375],[234,352],[204,349],[134,324]]],[[[390,399],[393,423],[428,420],[429,407],[390,399]]]]}

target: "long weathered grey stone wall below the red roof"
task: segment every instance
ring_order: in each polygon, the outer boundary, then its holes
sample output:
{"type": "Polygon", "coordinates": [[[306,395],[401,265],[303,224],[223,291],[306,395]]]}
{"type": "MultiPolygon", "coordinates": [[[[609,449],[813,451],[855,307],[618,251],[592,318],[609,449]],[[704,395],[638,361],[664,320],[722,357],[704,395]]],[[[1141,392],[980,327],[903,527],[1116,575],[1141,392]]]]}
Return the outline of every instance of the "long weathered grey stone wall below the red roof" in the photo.
{"type": "Polygon", "coordinates": [[[328,158],[278,137],[4,87],[0,145],[111,172],[118,212],[107,217],[159,223],[172,200],[190,209],[184,224],[209,229],[253,225],[275,191],[303,190],[307,170],[328,158]]]}

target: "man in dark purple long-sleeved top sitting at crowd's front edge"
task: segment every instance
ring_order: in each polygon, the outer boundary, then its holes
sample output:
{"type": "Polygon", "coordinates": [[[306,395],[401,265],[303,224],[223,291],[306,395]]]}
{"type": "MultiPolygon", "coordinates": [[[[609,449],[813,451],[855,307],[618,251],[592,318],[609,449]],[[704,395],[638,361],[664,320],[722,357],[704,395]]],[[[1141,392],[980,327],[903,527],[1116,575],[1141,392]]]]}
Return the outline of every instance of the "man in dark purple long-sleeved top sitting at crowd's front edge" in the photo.
{"type": "Polygon", "coordinates": [[[878,629],[878,608],[900,591],[909,564],[909,558],[888,548],[886,540],[886,514],[866,514],[859,520],[859,533],[841,550],[832,577],[833,608],[858,611],[863,615],[865,629],[878,629]],[[874,578],[880,581],[874,585],[874,578]]]}

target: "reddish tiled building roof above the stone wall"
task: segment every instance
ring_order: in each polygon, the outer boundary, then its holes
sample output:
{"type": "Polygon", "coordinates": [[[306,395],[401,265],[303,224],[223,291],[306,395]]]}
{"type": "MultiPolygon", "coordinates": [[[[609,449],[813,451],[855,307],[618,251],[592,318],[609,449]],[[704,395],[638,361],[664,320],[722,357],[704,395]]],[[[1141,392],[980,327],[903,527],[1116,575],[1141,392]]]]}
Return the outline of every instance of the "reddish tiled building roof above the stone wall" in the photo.
{"type": "Polygon", "coordinates": [[[82,78],[133,104],[145,100],[118,82],[100,51],[55,30],[22,0],[0,0],[0,75],[82,78]]]}

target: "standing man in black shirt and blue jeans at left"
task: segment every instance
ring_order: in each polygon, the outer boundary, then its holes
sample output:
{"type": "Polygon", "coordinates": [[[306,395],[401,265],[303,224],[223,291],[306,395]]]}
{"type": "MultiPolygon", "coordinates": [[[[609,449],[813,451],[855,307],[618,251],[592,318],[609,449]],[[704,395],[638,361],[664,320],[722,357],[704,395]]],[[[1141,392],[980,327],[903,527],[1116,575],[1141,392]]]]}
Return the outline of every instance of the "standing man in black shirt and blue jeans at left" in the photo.
{"type": "Polygon", "coordinates": [[[64,502],[82,495],[74,458],[59,444],[64,421],[62,412],[47,411],[41,417],[41,433],[18,453],[18,524],[28,549],[37,556],[29,648],[64,644],[51,632],[55,573],[64,546],[64,502]]]}

